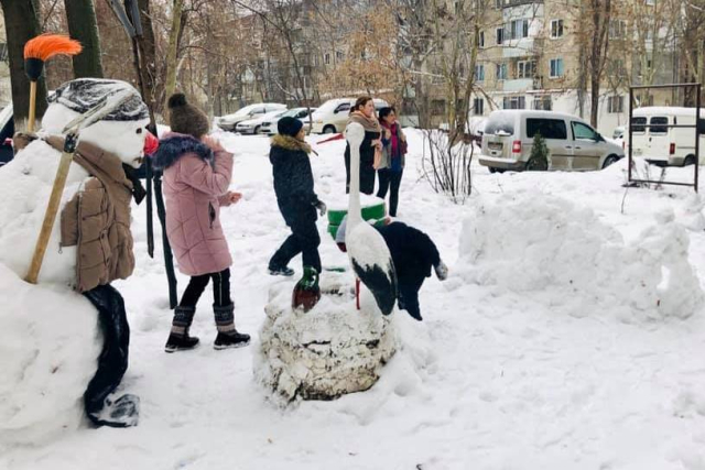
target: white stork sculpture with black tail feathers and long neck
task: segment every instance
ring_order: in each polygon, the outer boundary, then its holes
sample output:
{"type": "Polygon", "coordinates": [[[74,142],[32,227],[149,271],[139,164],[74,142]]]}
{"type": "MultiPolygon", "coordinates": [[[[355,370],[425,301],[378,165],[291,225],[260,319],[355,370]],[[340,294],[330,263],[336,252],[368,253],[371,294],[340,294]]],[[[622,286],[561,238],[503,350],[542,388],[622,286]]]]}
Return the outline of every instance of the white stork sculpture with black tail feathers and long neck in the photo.
{"type": "MultiPolygon", "coordinates": [[[[370,289],[382,314],[389,315],[397,302],[394,264],[384,239],[364,222],[360,208],[360,144],[365,139],[365,129],[358,123],[350,123],[345,135],[350,145],[350,195],[345,244],[352,271],[370,289]]],[[[359,289],[356,294],[359,295],[359,289]]]]}

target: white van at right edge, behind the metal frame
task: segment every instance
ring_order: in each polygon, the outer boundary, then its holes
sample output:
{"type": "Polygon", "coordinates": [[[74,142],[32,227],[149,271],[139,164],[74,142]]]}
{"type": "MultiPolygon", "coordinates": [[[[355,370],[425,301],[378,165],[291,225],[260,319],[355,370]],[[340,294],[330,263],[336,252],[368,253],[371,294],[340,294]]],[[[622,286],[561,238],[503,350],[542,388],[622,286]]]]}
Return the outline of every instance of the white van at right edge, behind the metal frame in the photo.
{"type": "MultiPolygon", "coordinates": [[[[695,129],[669,125],[695,125],[695,108],[646,107],[632,112],[632,155],[649,163],[669,166],[685,166],[695,163],[695,129]]],[[[705,110],[701,110],[705,119],[705,110]]],[[[699,136],[699,164],[705,163],[705,134],[699,136]]],[[[629,132],[625,132],[625,144],[630,144],[629,132]]]]}

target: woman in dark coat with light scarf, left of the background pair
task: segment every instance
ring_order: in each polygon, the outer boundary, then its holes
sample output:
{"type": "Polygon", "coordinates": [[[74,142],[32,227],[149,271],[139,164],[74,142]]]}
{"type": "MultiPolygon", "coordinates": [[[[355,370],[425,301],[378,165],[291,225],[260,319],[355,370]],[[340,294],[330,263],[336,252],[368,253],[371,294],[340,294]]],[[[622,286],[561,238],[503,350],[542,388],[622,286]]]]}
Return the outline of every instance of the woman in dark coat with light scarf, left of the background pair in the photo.
{"type": "MultiPolygon", "coordinates": [[[[380,140],[382,128],[375,116],[375,102],[370,97],[358,98],[352,109],[348,124],[357,122],[365,128],[365,140],[360,144],[360,193],[375,193],[375,152],[381,152],[380,140]]],[[[350,145],[345,146],[345,192],[350,192],[350,145]]]]}

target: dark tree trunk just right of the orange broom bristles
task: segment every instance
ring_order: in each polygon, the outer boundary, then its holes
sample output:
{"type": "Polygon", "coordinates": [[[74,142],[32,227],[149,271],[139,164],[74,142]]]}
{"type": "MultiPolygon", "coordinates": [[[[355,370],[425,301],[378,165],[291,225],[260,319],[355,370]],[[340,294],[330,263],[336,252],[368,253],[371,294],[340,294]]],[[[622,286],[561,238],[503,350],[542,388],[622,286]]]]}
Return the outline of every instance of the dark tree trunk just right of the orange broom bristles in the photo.
{"type": "Polygon", "coordinates": [[[68,33],[84,50],[73,56],[74,77],[102,78],[100,39],[93,0],[64,0],[68,33]]]}

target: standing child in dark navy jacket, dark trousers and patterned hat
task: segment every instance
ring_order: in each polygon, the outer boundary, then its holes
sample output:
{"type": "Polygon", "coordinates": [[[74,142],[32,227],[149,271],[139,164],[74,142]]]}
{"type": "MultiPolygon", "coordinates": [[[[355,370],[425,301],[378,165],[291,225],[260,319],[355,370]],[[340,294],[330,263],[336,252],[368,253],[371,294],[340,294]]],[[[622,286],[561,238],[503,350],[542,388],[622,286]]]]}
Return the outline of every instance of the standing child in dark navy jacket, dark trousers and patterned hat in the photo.
{"type": "Polygon", "coordinates": [[[302,253],[304,266],[311,266],[321,273],[321,237],[316,228],[316,209],[324,216],[326,206],[313,189],[313,172],[308,161],[311,146],[304,142],[303,122],[299,119],[280,119],[278,131],[279,134],[272,139],[269,160],[272,163],[279,210],[292,234],[269,261],[269,273],[293,275],[294,270],[288,264],[299,253],[302,253]]]}

